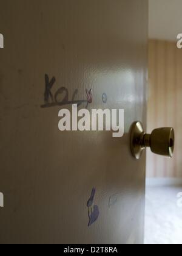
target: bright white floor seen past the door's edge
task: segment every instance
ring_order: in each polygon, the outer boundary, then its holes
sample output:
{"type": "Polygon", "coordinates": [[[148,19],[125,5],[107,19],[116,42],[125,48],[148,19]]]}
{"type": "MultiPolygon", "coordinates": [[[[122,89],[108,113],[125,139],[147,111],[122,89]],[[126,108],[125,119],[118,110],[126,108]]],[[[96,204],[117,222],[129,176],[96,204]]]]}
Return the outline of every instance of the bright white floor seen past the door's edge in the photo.
{"type": "Polygon", "coordinates": [[[182,187],[147,187],[145,244],[182,244],[182,187]]]}

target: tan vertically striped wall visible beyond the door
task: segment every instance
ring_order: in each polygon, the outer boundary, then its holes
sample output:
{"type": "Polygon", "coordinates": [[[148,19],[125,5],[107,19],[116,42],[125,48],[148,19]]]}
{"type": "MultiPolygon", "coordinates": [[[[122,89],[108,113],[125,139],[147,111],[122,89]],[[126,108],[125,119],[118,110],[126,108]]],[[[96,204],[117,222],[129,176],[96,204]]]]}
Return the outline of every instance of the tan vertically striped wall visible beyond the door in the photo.
{"type": "Polygon", "coordinates": [[[147,132],[174,127],[172,159],[147,150],[147,177],[182,177],[182,49],[175,42],[149,41],[147,132]]]}

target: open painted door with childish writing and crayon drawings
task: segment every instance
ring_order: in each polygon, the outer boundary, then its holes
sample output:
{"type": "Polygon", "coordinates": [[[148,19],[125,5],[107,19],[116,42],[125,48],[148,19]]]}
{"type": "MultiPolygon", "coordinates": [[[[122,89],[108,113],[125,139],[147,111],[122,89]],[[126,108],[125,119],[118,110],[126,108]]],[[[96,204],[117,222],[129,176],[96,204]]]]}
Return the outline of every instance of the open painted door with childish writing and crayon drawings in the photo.
{"type": "Polygon", "coordinates": [[[0,242],[143,243],[147,1],[7,0],[0,24],[0,242]],[[61,132],[73,102],[124,109],[124,136],[61,132]]]}

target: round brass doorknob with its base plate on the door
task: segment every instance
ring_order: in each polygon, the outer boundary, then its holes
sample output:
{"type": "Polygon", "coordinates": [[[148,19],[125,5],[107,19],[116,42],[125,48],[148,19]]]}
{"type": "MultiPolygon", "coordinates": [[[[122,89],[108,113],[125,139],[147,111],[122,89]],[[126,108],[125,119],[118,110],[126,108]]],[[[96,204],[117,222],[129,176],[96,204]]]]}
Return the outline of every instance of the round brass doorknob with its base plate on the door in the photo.
{"type": "Polygon", "coordinates": [[[151,134],[144,132],[143,125],[135,122],[131,127],[131,151],[133,157],[140,159],[143,150],[150,147],[151,151],[158,155],[172,157],[174,152],[175,135],[173,128],[159,128],[151,134]]]}

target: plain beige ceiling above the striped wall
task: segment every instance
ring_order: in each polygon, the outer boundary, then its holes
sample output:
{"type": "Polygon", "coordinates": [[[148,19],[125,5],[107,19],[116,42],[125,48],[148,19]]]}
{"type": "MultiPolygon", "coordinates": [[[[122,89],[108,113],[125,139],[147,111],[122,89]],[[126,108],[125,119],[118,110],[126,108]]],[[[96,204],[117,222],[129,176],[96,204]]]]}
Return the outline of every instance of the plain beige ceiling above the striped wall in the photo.
{"type": "Polygon", "coordinates": [[[149,38],[175,41],[182,33],[182,0],[149,0],[149,38]]]}

